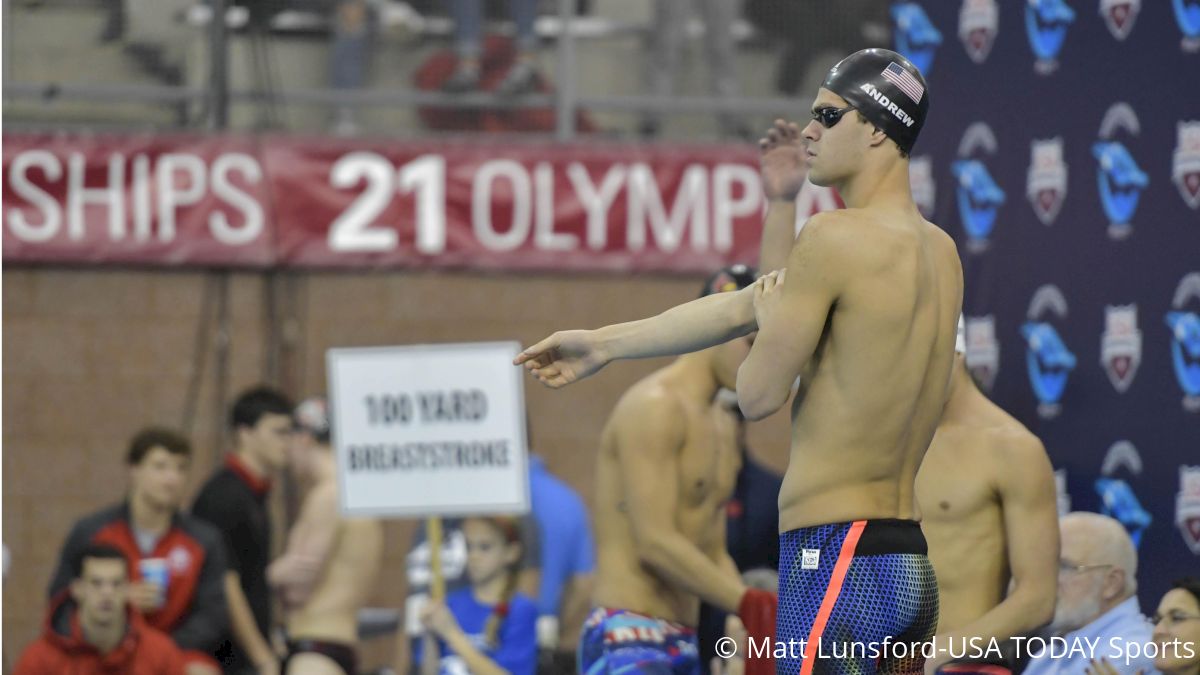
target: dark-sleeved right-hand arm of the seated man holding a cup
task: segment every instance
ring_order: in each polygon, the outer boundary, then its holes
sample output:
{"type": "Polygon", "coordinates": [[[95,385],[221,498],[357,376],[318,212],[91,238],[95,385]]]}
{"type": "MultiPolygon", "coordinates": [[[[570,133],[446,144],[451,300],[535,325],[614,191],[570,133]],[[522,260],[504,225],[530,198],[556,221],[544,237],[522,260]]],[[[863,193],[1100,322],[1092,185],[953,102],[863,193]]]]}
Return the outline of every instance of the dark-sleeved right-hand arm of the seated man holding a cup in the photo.
{"type": "Polygon", "coordinates": [[[197,522],[197,526],[202,525],[205,532],[196,533],[204,546],[200,579],[196,584],[187,616],[175,627],[170,637],[184,651],[211,653],[229,626],[229,609],[224,595],[224,575],[228,567],[221,534],[210,525],[197,522]]]}

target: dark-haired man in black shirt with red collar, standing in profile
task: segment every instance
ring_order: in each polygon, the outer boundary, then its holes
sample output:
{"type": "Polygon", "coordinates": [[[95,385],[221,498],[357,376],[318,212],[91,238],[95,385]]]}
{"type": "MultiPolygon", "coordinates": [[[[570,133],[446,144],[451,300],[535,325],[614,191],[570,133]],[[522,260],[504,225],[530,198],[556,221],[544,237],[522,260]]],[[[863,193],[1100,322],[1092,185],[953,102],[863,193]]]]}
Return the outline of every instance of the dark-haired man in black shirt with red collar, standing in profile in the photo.
{"type": "Polygon", "coordinates": [[[266,496],[271,477],[287,456],[292,401],[274,389],[256,387],[234,401],[229,425],[233,453],[200,489],[192,514],[221,531],[229,554],[224,575],[229,632],[215,656],[227,675],[268,675],[278,673],[280,662],[270,643],[266,566],[271,522],[266,496]]]}

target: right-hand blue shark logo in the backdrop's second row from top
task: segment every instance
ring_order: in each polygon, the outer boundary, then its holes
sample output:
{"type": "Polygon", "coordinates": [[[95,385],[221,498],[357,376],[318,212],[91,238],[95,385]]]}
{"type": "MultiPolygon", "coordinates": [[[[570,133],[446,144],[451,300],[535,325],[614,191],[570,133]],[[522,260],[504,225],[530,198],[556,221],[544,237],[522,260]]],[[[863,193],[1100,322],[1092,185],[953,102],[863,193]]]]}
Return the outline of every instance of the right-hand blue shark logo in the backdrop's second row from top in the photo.
{"type": "Polygon", "coordinates": [[[1092,145],[1096,157],[1096,179],[1099,184],[1100,205],[1109,219],[1109,237],[1124,239],[1133,233],[1133,216],[1150,177],[1123,143],[1115,139],[1118,131],[1136,137],[1141,133],[1138,114],[1129,103],[1114,103],[1100,123],[1100,139],[1092,145]]]}

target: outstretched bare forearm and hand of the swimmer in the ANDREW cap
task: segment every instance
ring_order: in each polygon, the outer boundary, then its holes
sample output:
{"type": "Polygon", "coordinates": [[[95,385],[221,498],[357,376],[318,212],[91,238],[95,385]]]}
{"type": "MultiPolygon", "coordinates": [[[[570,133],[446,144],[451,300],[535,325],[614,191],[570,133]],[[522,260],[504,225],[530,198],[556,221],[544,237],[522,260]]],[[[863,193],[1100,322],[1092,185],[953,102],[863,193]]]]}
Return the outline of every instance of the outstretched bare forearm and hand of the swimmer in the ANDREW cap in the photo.
{"type": "Polygon", "coordinates": [[[754,292],[714,293],[640,321],[595,330],[562,330],[512,360],[542,384],[559,388],[616,359],[685,354],[740,338],[755,329],[754,292]]]}

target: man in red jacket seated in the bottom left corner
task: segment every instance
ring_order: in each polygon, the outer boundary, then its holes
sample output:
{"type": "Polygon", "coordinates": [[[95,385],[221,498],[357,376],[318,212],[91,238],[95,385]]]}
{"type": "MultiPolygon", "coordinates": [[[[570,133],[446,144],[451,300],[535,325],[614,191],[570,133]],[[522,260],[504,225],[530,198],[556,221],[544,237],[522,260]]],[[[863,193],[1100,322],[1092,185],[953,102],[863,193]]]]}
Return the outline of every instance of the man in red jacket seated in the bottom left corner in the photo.
{"type": "Polygon", "coordinates": [[[16,675],[182,675],[184,653],[128,603],[125,554],[86,545],[71,561],[71,579],[70,591],[52,601],[44,632],[22,653],[16,675]]]}

